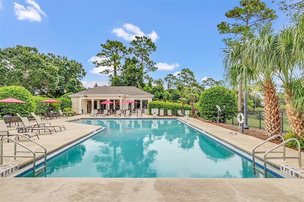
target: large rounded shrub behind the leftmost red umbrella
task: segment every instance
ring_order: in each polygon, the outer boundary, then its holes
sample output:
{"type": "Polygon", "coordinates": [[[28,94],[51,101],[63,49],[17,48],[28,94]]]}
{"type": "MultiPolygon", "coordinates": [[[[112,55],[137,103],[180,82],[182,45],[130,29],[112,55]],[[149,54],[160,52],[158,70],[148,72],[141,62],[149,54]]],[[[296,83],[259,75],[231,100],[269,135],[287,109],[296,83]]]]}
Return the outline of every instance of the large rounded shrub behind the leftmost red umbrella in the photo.
{"type": "MultiPolygon", "coordinates": [[[[12,115],[19,113],[21,116],[27,116],[35,111],[35,103],[32,94],[20,86],[4,86],[0,88],[0,99],[8,97],[22,100],[26,103],[12,103],[12,115]]],[[[10,113],[10,103],[0,103],[0,114],[4,116],[10,113]]]]}

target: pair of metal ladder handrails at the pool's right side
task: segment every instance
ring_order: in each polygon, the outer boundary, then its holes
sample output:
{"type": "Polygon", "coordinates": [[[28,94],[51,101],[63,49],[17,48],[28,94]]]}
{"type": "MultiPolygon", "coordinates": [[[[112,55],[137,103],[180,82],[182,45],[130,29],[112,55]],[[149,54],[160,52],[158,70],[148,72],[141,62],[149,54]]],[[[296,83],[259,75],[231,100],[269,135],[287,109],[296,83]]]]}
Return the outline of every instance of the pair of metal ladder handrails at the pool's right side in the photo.
{"type": "Polygon", "coordinates": [[[252,166],[253,166],[253,173],[255,176],[256,172],[261,173],[262,175],[264,175],[265,178],[267,178],[267,159],[283,159],[283,162],[287,162],[286,159],[298,159],[299,160],[299,166],[297,168],[299,169],[304,169],[301,167],[301,145],[299,140],[295,139],[295,138],[289,138],[288,140],[284,139],[284,136],[282,136],[281,134],[277,134],[274,135],[270,138],[268,138],[267,140],[265,140],[264,142],[261,142],[260,144],[258,144],[257,146],[255,146],[252,150],[252,166]],[[268,151],[255,151],[255,149],[261,145],[263,145],[266,142],[269,142],[270,140],[273,140],[277,137],[281,137],[282,138],[282,143],[278,144],[277,146],[271,148],[268,151]],[[286,157],[286,150],[285,150],[285,143],[290,142],[290,141],[296,141],[298,143],[298,156],[297,157],[286,157]],[[275,149],[277,149],[278,147],[283,146],[283,150],[282,151],[273,151],[275,149]],[[255,166],[255,154],[257,153],[264,153],[264,171],[261,170],[260,168],[255,166]],[[267,157],[268,153],[283,153],[283,157],[267,157]]]}

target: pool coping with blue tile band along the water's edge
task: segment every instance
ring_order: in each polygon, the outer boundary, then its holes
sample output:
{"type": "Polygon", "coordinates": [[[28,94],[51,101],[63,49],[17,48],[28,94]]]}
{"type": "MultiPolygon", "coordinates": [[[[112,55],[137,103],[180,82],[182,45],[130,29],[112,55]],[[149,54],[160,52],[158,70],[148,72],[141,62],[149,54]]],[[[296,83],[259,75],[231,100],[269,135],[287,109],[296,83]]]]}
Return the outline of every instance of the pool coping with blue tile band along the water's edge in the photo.
{"type": "MultiPolygon", "coordinates": [[[[249,162],[252,163],[252,158],[250,158],[250,157],[252,157],[251,153],[249,153],[249,152],[241,149],[240,147],[238,147],[238,146],[236,146],[236,145],[234,145],[234,144],[232,144],[232,143],[230,143],[228,141],[225,141],[225,140],[217,137],[216,135],[214,135],[214,134],[206,131],[205,129],[199,128],[199,127],[195,126],[194,124],[188,123],[186,120],[181,120],[178,117],[174,117],[174,118],[173,117],[169,117],[169,118],[167,118],[167,117],[163,117],[163,118],[161,118],[161,117],[157,117],[157,118],[146,118],[146,117],[133,117],[133,118],[130,118],[130,117],[119,117],[119,118],[113,118],[113,117],[109,117],[109,118],[90,117],[90,118],[81,118],[81,120],[94,120],[94,119],[99,119],[99,120],[102,120],[102,119],[106,119],[106,120],[119,120],[119,119],[122,119],[122,120],[123,119],[130,119],[130,120],[134,120],[134,119],[144,119],[144,120],[162,120],[162,119],[166,119],[166,120],[178,120],[181,123],[183,123],[184,125],[187,125],[187,126],[191,127],[193,130],[195,130],[195,131],[199,132],[200,134],[206,136],[207,138],[215,141],[216,143],[219,143],[221,146],[224,146],[225,148],[229,149],[233,153],[236,153],[240,157],[243,157],[244,159],[246,159],[246,160],[248,160],[249,162]],[[205,134],[204,132],[207,133],[208,135],[205,134]],[[234,148],[237,149],[237,150],[239,150],[239,151],[235,150],[234,148]]],[[[74,122],[75,120],[78,120],[78,119],[64,120],[64,121],[77,123],[77,122],[74,122]]],[[[78,123],[78,124],[82,124],[82,123],[78,123]]],[[[65,144],[64,146],[58,147],[57,149],[55,149],[55,150],[47,153],[47,155],[51,155],[50,157],[47,157],[47,161],[49,161],[49,160],[51,160],[51,159],[59,156],[60,154],[64,153],[65,151],[67,151],[67,150],[71,149],[72,147],[80,144],[81,142],[84,142],[85,140],[87,140],[91,136],[93,136],[96,133],[98,133],[98,132],[100,132],[102,130],[105,130],[105,129],[106,129],[105,127],[100,127],[97,130],[94,130],[93,132],[87,133],[86,135],[81,136],[81,137],[77,138],[76,140],[72,140],[71,142],[65,144]],[[55,153],[55,152],[57,152],[57,153],[55,153]],[[52,154],[54,154],[54,155],[52,155],[52,154]]],[[[37,161],[40,160],[41,162],[39,162],[39,163],[36,164],[36,168],[40,167],[43,164],[43,162],[44,162],[43,157],[44,157],[44,155],[42,157],[39,157],[39,159],[37,160],[37,161]]],[[[256,160],[257,166],[260,167],[260,168],[262,168],[262,169],[264,169],[263,159],[261,159],[259,157],[256,157],[256,158],[257,158],[257,160],[256,160]]],[[[30,165],[31,163],[33,163],[33,161],[31,161],[30,163],[27,163],[26,165],[23,165],[22,168],[30,165]]],[[[270,168],[267,167],[267,171],[269,173],[271,173],[272,175],[274,175],[275,177],[277,177],[277,178],[289,178],[290,177],[290,176],[286,175],[285,173],[282,173],[280,171],[280,167],[277,167],[277,166],[275,166],[274,164],[272,164],[270,162],[267,162],[267,164],[270,166],[270,168]],[[281,174],[277,173],[278,171],[280,171],[281,174]]],[[[29,169],[27,169],[25,171],[22,171],[22,172],[18,171],[12,177],[22,177],[23,175],[25,175],[26,173],[31,172],[32,170],[33,170],[33,167],[31,167],[31,168],[29,168],[29,169]]]]}

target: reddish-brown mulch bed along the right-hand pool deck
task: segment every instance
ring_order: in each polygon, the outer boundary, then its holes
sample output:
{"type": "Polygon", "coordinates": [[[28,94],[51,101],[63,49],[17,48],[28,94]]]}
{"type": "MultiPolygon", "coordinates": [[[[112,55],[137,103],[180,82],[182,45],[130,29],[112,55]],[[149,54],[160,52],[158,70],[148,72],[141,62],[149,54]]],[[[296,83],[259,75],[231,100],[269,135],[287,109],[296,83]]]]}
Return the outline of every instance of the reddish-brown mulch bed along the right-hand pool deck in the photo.
{"type": "MultiPolygon", "coordinates": [[[[230,124],[227,124],[227,123],[216,123],[216,122],[213,122],[213,121],[208,121],[208,120],[205,120],[205,119],[202,119],[202,118],[197,118],[197,120],[200,120],[200,121],[204,121],[204,122],[207,122],[207,123],[211,123],[213,125],[216,125],[216,126],[220,126],[222,128],[226,128],[226,129],[229,129],[229,130],[233,130],[233,131],[238,131],[238,128],[236,128],[235,126],[232,126],[230,124]]],[[[256,138],[259,138],[261,140],[267,140],[267,136],[265,134],[265,131],[264,130],[259,130],[259,129],[252,129],[252,130],[244,130],[244,133],[245,135],[249,135],[249,136],[253,136],[253,137],[256,137],[256,138]]],[[[275,143],[275,144],[279,144],[279,143],[282,143],[282,141],[279,141],[279,140],[270,140],[269,142],[271,143],[275,143]]],[[[291,147],[291,149],[294,149],[294,150],[297,150],[296,147],[291,147]]],[[[304,149],[302,150],[302,152],[304,152],[304,149]]]]}

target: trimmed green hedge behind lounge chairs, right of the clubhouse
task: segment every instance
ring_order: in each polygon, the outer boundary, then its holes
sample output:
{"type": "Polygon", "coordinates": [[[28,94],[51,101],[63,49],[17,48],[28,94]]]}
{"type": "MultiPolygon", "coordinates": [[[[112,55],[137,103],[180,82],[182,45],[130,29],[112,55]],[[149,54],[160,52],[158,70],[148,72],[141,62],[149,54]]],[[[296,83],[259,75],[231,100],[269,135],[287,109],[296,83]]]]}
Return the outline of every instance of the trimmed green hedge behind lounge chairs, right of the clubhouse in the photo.
{"type": "MultiPolygon", "coordinates": [[[[151,109],[157,108],[158,111],[160,109],[164,109],[164,114],[167,115],[167,110],[171,110],[171,113],[174,115],[178,114],[177,110],[183,110],[181,104],[179,103],[169,103],[169,102],[161,102],[161,101],[152,101],[148,103],[149,114],[151,114],[151,109]]],[[[191,110],[191,106],[188,104],[184,105],[185,110],[191,110]]]]}

